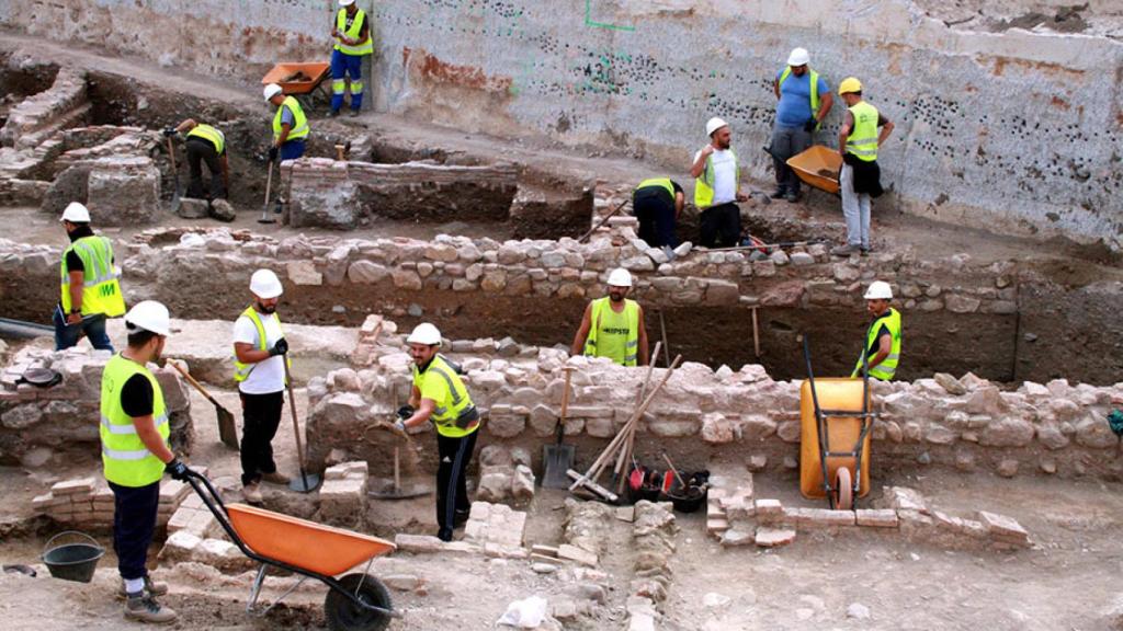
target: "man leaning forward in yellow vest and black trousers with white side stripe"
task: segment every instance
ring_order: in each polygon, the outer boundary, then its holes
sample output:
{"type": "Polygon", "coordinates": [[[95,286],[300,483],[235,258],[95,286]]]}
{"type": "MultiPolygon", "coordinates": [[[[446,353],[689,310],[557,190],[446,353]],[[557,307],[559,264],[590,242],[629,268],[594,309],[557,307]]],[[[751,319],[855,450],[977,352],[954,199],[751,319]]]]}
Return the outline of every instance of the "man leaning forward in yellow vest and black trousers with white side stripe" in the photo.
{"type": "Polygon", "coordinates": [[[404,432],[431,421],[437,430],[437,537],[451,541],[472,509],[467,469],[480,433],[480,412],[460,378],[460,367],[439,353],[437,327],[422,322],[405,342],[413,358],[413,385],[394,424],[404,432]]]}

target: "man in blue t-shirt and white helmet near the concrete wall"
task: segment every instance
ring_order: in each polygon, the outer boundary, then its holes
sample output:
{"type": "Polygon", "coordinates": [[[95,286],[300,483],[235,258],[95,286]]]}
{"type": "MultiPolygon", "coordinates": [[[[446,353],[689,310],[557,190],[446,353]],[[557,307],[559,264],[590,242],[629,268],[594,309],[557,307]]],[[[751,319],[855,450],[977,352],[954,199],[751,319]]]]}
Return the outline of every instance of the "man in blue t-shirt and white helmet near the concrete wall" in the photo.
{"type": "Polygon", "coordinates": [[[811,136],[834,104],[827,82],[807,67],[811,56],[795,48],[787,57],[787,67],[776,73],[773,90],[776,125],[773,127],[772,155],[776,162],[776,192],[773,199],[794,202],[800,198],[800,179],[787,166],[787,158],[811,146],[811,136]]]}

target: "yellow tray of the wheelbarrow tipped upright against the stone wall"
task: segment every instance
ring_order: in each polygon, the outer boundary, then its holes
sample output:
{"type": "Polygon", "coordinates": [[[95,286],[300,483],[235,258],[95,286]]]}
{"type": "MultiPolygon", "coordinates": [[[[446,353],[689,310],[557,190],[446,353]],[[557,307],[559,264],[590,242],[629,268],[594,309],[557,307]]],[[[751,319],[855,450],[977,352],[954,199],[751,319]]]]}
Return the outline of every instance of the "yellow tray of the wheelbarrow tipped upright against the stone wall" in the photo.
{"type": "MultiPolygon", "coordinates": [[[[829,417],[827,451],[856,451],[861,437],[864,420],[861,395],[862,379],[846,377],[816,377],[815,394],[822,410],[853,411],[853,417],[829,417]]],[[[800,387],[800,492],[804,497],[822,500],[827,497],[823,488],[822,458],[819,451],[819,423],[815,419],[815,403],[811,392],[811,381],[804,379],[800,387]]],[[[867,394],[868,396],[868,394],[867,394]]],[[[869,409],[867,401],[867,410],[869,409]]],[[[861,446],[861,475],[858,497],[869,493],[869,432],[861,446]]],[[[853,457],[828,457],[827,475],[833,484],[839,467],[855,469],[853,457]]],[[[857,472],[853,472],[857,473],[857,472]]],[[[852,479],[852,476],[851,476],[852,479]]]]}

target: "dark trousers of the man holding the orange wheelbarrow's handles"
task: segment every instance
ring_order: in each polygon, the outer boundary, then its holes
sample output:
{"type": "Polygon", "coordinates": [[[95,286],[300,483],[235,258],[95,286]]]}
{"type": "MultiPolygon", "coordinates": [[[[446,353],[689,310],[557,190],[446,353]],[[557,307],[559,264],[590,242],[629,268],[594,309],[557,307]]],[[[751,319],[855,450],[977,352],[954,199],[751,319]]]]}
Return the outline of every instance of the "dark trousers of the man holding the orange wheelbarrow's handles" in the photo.
{"type": "Polygon", "coordinates": [[[121,578],[148,576],[145,561],[148,546],[156,531],[156,511],[159,509],[159,481],[147,486],[120,486],[109,483],[113,492],[113,551],[121,578]]]}

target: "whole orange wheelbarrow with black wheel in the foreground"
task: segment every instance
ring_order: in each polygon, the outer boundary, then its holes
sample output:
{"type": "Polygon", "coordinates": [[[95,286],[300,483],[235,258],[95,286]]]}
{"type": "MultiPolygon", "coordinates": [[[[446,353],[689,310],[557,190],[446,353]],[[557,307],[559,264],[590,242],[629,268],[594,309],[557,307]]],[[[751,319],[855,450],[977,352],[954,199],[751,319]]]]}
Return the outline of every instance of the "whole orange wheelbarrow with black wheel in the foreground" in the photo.
{"type": "Polygon", "coordinates": [[[241,554],[261,564],[246,603],[248,613],[265,615],[304,580],[314,578],[328,586],[323,612],[336,631],[382,631],[391,619],[402,616],[393,610],[386,586],[369,574],[375,557],[396,549],[390,541],[246,504],[225,504],[210,481],[193,470],[188,483],[241,554]],[[364,571],[335,578],[363,561],[364,571]],[[270,567],[299,575],[300,580],[259,610],[257,598],[270,567]]]}

